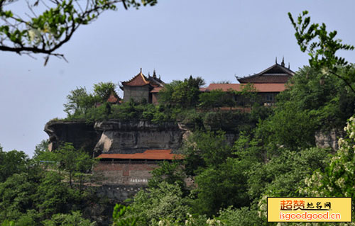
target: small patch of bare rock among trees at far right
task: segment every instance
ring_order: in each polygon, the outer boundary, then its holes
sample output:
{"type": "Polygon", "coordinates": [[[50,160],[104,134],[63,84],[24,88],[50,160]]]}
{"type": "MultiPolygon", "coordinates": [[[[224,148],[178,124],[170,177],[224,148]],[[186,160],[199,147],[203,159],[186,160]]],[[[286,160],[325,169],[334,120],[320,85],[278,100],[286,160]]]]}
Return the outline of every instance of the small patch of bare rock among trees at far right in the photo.
{"type": "Polygon", "coordinates": [[[329,131],[317,131],[315,132],[315,144],[317,147],[331,147],[334,151],[339,148],[338,140],[340,137],[344,137],[344,131],[340,129],[332,129],[329,131]]]}

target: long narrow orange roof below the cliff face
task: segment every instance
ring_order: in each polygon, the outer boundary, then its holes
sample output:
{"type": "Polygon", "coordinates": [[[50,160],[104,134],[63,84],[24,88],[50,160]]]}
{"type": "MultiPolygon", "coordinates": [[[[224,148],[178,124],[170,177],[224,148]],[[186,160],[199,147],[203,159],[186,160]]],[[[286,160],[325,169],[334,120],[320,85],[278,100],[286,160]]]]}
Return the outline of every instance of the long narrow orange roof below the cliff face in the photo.
{"type": "Polygon", "coordinates": [[[135,154],[100,154],[98,159],[154,159],[154,160],[173,160],[184,159],[182,154],[172,154],[171,149],[152,149],[143,153],[135,154]]]}

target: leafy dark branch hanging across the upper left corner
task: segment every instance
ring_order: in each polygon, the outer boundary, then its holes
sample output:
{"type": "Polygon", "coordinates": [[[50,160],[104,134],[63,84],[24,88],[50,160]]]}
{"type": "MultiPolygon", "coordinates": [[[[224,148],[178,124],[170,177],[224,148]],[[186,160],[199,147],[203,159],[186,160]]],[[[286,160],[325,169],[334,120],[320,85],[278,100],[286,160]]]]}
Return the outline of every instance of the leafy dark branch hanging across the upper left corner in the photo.
{"type": "MultiPolygon", "coordinates": [[[[0,1],[0,50],[23,53],[42,53],[64,58],[57,50],[67,43],[80,26],[95,21],[105,11],[157,3],[156,0],[103,0],[103,1],[28,1],[28,13],[11,11],[13,0],[0,1]],[[43,4],[43,6],[40,6],[43,4]],[[35,13],[40,9],[45,9],[35,13]]],[[[23,2],[24,4],[24,2],[23,2]]]]}

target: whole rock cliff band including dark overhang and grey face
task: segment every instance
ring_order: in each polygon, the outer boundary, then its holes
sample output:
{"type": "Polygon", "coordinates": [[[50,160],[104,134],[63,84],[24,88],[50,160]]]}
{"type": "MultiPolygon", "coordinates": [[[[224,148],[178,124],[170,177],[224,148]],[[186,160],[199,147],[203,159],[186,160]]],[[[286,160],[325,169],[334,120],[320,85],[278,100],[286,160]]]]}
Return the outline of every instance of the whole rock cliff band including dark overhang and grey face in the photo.
{"type": "Polygon", "coordinates": [[[52,149],[62,142],[72,142],[94,156],[102,153],[141,153],[146,149],[178,150],[187,130],[176,123],[154,124],[146,121],[108,120],[87,124],[84,121],[50,121],[45,132],[52,149]]]}

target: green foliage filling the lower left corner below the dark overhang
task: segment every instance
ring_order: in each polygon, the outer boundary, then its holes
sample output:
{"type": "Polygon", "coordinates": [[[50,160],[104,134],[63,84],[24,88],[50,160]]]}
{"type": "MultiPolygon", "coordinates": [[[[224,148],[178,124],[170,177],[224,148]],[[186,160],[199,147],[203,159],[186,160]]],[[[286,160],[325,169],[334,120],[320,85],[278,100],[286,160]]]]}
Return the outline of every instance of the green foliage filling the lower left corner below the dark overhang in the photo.
{"type": "MultiPolygon", "coordinates": [[[[48,152],[45,142],[38,145],[34,159],[15,150],[1,154],[9,160],[7,164],[13,166],[4,170],[6,174],[1,174],[4,181],[0,181],[0,222],[5,225],[11,222],[13,225],[94,225],[83,220],[80,213],[69,214],[84,208],[85,203],[94,198],[91,190],[80,186],[87,178],[81,173],[92,168],[93,161],[90,157],[87,159],[88,154],[77,152],[71,145],[60,152],[48,152]],[[9,157],[13,158],[12,162],[9,157]]],[[[6,166],[6,162],[1,162],[1,166],[6,166]]]]}

